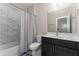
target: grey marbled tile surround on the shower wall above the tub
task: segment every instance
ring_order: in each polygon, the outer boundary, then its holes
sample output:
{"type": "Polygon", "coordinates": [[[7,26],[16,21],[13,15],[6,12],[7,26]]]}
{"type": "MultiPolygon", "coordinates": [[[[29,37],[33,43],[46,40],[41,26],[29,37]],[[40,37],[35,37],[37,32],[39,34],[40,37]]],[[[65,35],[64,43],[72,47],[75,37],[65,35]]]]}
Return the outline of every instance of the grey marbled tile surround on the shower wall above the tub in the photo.
{"type": "Polygon", "coordinates": [[[0,4],[0,49],[4,48],[7,43],[16,42],[14,45],[19,44],[20,14],[19,10],[11,5],[0,4]],[[1,47],[2,45],[3,47],[1,47]]]}

